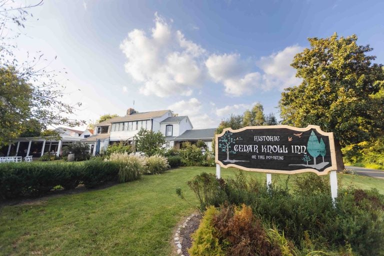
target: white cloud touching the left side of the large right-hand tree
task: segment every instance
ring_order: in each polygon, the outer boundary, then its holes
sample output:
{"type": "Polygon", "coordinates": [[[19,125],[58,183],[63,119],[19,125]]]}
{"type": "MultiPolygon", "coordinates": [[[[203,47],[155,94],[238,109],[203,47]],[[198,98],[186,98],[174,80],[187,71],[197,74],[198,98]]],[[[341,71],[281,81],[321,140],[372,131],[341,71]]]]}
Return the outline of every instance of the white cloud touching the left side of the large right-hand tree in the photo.
{"type": "Polygon", "coordinates": [[[264,71],[263,84],[268,88],[283,89],[300,83],[301,79],[295,77],[296,70],[290,66],[290,63],[294,55],[302,50],[303,47],[298,45],[287,46],[277,53],[261,57],[257,65],[264,71]]]}

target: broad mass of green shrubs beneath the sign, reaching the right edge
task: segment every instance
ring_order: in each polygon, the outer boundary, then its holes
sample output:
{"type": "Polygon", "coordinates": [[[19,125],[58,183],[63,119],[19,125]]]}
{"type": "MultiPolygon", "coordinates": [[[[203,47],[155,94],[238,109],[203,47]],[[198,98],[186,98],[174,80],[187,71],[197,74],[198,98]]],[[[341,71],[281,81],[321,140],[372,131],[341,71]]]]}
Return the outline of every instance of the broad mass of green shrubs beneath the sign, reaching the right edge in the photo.
{"type": "MultiPolygon", "coordinates": [[[[240,172],[225,183],[215,182],[213,174],[204,174],[188,185],[201,208],[218,205],[225,196],[229,203],[245,203],[256,218],[274,223],[287,241],[301,249],[305,247],[302,251],[317,248],[337,249],[340,252],[335,253],[340,255],[384,255],[384,195],[374,189],[340,189],[333,207],[327,179],[308,173],[297,177],[294,183],[292,191],[287,181],[283,186],[267,189],[265,182],[248,180],[240,172]],[[220,190],[225,191],[225,196],[217,196],[220,190]],[[313,241],[313,246],[305,240],[313,241]]],[[[281,236],[278,239],[282,245],[286,243],[281,236]]]]}

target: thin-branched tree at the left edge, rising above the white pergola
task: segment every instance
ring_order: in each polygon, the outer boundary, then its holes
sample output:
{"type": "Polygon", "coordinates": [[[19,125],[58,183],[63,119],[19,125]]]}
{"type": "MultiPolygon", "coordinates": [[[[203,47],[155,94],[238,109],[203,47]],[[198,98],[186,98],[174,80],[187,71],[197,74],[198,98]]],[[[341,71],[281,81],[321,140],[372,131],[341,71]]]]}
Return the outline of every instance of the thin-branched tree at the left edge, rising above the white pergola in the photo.
{"type": "Polygon", "coordinates": [[[0,146],[36,128],[36,123],[40,129],[83,123],[69,117],[81,104],[62,101],[64,87],[56,82],[57,73],[46,69],[43,54],[37,53],[26,60],[17,60],[13,54],[17,45],[12,42],[17,41],[20,32],[12,34],[12,31],[17,31],[15,27],[24,27],[30,16],[28,9],[40,4],[41,1],[37,1],[14,6],[11,1],[0,0],[0,146]],[[33,127],[28,127],[29,124],[33,127]]]}

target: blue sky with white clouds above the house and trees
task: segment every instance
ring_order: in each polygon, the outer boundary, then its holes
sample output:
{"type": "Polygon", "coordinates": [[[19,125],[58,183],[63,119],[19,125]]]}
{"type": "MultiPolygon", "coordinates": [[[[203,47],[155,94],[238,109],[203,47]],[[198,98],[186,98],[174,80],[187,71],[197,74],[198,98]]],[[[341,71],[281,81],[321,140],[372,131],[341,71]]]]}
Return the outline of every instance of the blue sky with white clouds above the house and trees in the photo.
{"type": "Polygon", "coordinates": [[[383,9],[378,0],[45,0],[17,54],[41,50],[49,68],[65,68],[59,81],[64,100],[82,102],[78,119],[123,115],[134,100],[138,111],[170,108],[210,128],[255,102],[278,117],[307,37],[354,33],[383,63],[383,9]]]}

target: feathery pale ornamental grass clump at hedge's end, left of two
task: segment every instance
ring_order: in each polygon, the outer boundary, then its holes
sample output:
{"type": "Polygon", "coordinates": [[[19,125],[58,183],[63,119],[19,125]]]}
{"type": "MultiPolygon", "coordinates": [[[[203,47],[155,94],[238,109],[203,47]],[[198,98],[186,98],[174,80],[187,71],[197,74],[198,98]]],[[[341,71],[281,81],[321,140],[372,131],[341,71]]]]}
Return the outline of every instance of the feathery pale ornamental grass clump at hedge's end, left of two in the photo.
{"type": "Polygon", "coordinates": [[[118,181],[121,183],[138,179],[144,169],[145,164],[144,157],[128,154],[127,152],[112,153],[109,156],[109,161],[118,164],[117,176],[118,181]]]}

